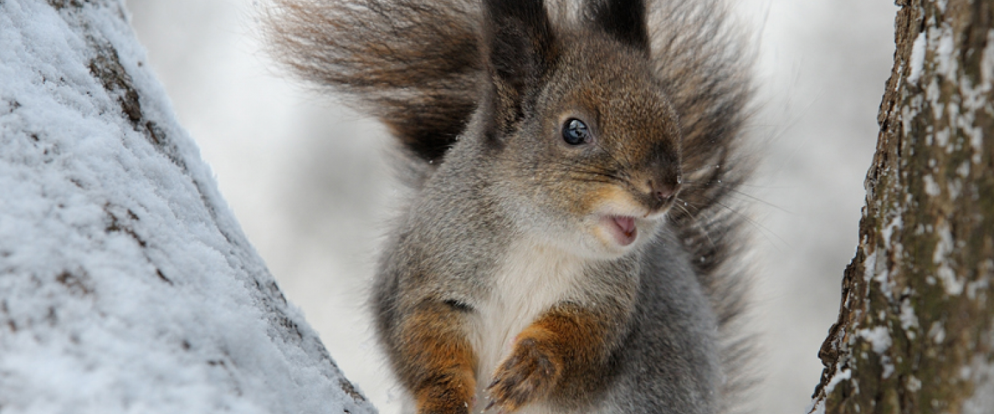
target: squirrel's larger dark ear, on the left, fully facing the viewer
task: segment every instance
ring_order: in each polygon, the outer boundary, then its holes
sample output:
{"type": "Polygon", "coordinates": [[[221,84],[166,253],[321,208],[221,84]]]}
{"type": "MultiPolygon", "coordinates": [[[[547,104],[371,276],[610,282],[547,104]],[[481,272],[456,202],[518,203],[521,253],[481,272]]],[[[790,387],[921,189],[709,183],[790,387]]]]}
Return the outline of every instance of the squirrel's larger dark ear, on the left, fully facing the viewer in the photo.
{"type": "Polygon", "coordinates": [[[494,121],[506,130],[524,116],[554,65],[556,39],[543,0],[485,0],[484,19],[494,121]]]}

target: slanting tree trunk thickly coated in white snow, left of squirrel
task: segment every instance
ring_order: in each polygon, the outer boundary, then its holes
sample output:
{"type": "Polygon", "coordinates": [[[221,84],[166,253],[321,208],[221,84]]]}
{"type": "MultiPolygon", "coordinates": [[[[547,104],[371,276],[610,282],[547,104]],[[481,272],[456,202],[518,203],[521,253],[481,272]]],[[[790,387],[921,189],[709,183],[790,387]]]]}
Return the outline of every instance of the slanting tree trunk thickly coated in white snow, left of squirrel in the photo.
{"type": "Polygon", "coordinates": [[[372,413],[286,303],[119,0],[0,0],[0,412],[372,413]]]}

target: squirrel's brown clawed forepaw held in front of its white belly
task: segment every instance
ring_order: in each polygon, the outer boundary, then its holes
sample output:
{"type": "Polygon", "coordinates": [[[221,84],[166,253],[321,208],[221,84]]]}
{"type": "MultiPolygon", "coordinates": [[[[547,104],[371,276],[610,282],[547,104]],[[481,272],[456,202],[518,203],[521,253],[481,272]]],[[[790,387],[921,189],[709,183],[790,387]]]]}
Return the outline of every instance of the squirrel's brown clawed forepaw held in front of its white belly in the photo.
{"type": "Polygon", "coordinates": [[[559,380],[563,362],[538,341],[519,341],[494,372],[487,386],[490,404],[486,409],[512,412],[549,394],[559,380]]]}

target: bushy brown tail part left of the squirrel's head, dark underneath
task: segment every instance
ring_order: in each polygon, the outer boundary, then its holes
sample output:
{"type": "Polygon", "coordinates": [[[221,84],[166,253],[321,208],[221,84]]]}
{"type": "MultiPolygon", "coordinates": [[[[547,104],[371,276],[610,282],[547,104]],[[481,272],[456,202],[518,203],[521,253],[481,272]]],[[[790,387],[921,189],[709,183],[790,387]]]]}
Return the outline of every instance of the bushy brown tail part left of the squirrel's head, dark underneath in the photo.
{"type": "Polygon", "coordinates": [[[465,128],[483,61],[472,0],[273,0],[269,52],[380,118],[415,157],[439,161],[465,128]]]}

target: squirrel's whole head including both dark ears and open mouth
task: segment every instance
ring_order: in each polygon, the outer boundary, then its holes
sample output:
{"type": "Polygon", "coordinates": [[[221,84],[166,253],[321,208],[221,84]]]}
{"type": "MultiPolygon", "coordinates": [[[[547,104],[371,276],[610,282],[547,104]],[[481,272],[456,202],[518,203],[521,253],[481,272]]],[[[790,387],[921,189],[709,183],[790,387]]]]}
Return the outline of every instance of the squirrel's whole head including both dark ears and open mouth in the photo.
{"type": "Polygon", "coordinates": [[[478,115],[498,198],[525,231],[569,251],[632,251],[661,227],[682,174],[645,4],[590,0],[565,28],[540,0],[486,0],[485,11],[478,115]]]}

